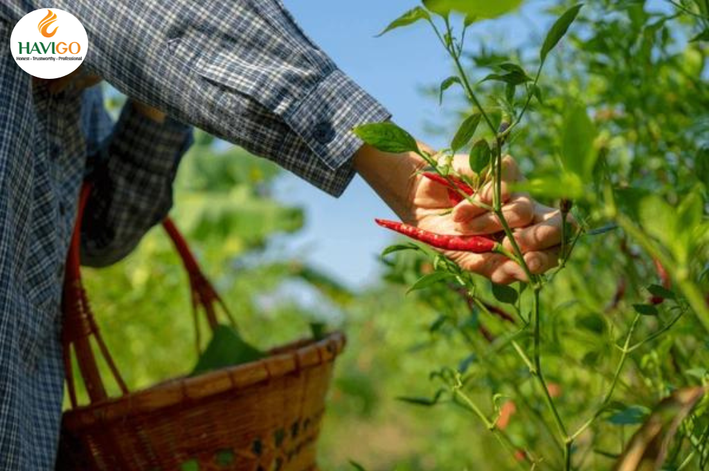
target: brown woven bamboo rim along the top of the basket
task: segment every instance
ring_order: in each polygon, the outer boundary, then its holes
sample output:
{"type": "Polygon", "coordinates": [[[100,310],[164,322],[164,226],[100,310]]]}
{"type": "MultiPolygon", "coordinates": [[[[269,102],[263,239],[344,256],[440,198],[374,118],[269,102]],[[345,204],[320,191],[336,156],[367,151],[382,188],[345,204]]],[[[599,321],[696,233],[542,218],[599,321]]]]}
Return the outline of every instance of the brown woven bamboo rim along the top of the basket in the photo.
{"type": "Polygon", "coordinates": [[[179,377],[157,383],[128,395],[113,397],[75,409],[67,409],[62,419],[70,429],[79,429],[149,414],[177,404],[199,402],[230,390],[242,390],[331,363],[345,348],[345,334],[333,331],[319,341],[301,339],[269,350],[259,361],[228,366],[194,377],[179,377]]]}

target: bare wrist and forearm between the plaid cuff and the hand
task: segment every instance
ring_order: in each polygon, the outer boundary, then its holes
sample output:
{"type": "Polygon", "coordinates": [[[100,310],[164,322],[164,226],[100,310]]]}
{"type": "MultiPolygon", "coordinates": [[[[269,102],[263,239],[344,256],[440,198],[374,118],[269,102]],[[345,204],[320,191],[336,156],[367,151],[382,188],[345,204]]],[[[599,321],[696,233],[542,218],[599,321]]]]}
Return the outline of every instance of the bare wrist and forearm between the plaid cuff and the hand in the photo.
{"type": "MultiPolygon", "coordinates": [[[[425,148],[419,144],[420,148],[425,148]]],[[[426,162],[417,154],[388,154],[364,144],[354,154],[354,169],[384,203],[403,220],[415,222],[416,187],[426,162]]]]}

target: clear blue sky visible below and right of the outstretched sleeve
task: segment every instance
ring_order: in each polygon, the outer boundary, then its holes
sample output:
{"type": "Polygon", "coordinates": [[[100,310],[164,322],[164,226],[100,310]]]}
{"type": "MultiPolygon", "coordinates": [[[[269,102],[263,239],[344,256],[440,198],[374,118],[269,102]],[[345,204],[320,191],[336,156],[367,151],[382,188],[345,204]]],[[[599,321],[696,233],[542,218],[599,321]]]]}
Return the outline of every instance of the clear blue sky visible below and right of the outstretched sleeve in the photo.
{"type": "MultiPolygon", "coordinates": [[[[284,3],[303,30],[342,70],[383,103],[398,125],[434,147],[442,144],[441,137],[426,135],[425,122],[449,122],[454,107],[446,109],[444,102],[440,108],[437,101],[420,90],[451,74],[445,51],[423,23],[374,38],[391,20],[415,6],[415,0],[284,3]]],[[[548,5],[549,1],[529,0],[513,16],[476,25],[467,44],[478,47],[480,42],[502,39],[515,45],[530,35],[541,36],[549,18],[540,11],[548,5]]],[[[345,194],[335,199],[298,178],[286,176],[279,182],[277,195],[306,209],[305,229],[283,241],[291,254],[352,287],[376,283],[376,256],[393,237],[374,225],[374,217],[394,215],[361,178],[355,178],[345,194]]]]}

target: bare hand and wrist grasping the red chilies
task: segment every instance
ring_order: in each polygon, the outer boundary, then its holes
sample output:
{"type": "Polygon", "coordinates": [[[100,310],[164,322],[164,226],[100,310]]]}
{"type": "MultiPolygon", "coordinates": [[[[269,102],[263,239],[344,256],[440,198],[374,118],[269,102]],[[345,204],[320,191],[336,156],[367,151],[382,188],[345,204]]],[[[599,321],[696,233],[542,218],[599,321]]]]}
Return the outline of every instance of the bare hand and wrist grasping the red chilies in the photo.
{"type": "MultiPolygon", "coordinates": [[[[451,208],[448,189],[422,176],[421,170],[427,164],[416,154],[384,154],[365,146],[357,153],[355,166],[408,225],[435,234],[454,236],[496,234],[502,230],[501,222],[490,211],[493,200],[490,184],[470,198],[480,205],[464,200],[451,208]]],[[[455,157],[452,167],[458,174],[472,176],[467,156],[455,157]]],[[[501,188],[503,215],[514,232],[530,272],[543,273],[557,264],[562,218],[559,211],[540,205],[526,193],[513,193],[510,186],[521,178],[515,161],[505,157],[501,188]]],[[[503,239],[503,246],[508,252],[513,252],[512,243],[507,238],[503,239]]],[[[442,252],[462,268],[491,278],[496,283],[527,280],[523,268],[500,253],[442,252]]]]}

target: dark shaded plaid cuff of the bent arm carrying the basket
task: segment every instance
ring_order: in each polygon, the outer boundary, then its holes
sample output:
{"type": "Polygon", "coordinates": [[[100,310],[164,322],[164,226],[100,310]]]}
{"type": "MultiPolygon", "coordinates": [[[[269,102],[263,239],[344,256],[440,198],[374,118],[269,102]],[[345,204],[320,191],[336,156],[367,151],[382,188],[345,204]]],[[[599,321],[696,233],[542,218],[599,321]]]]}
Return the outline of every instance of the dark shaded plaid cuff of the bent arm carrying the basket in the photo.
{"type": "Polygon", "coordinates": [[[158,123],[128,103],[113,128],[110,153],[152,174],[172,175],[193,141],[192,128],[172,118],[158,123]]]}

